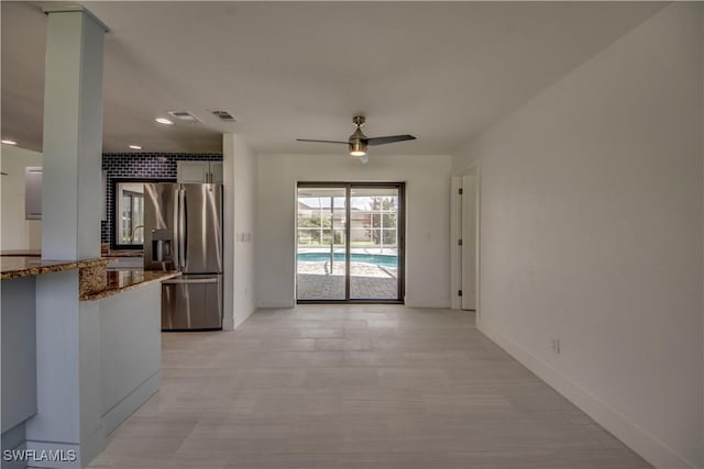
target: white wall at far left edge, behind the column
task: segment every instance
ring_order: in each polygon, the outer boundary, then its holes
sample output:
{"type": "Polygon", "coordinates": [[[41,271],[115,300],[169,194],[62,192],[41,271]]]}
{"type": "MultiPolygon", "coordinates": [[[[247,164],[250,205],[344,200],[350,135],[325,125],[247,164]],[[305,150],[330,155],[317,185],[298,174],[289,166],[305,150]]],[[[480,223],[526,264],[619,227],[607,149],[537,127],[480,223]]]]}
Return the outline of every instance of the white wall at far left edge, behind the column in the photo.
{"type": "Polygon", "coordinates": [[[24,168],[42,166],[42,154],[2,145],[0,149],[1,237],[0,249],[38,249],[42,247],[42,222],[24,220],[24,168]]]}

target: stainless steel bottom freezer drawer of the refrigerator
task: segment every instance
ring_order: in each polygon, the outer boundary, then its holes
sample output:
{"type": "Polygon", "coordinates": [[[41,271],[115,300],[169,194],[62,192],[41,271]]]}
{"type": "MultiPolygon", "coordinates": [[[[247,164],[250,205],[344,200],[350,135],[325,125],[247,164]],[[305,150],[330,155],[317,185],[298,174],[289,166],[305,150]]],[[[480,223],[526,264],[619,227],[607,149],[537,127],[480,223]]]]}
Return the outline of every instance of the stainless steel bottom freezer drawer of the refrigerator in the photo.
{"type": "Polygon", "coordinates": [[[222,328],[222,275],[162,282],[162,331],[222,328]]]}

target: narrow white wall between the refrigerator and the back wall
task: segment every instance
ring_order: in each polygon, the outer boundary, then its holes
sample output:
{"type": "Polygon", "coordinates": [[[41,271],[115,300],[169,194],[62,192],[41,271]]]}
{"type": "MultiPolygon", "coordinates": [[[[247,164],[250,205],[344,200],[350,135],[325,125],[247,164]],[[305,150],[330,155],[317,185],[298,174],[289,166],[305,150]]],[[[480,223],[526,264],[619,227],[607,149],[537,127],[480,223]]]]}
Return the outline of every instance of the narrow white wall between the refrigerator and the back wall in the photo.
{"type": "Polygon", "coordinates": [[[254,227],[256,156],[238,135],[222,137],[224,185],[223,328],[232,330],[256,309],[254,227]]]}

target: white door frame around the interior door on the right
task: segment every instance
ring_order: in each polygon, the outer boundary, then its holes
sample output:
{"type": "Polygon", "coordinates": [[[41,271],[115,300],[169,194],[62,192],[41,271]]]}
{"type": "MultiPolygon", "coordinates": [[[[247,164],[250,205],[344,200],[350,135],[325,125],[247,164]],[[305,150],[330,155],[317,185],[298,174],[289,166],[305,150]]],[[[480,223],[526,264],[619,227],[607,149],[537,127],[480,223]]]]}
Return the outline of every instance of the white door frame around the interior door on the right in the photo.
{"type": "Polygon", "coordinates": [[[476,320],[480,321],[482,310],[481,294],[481,246],[482,246],[482,199],[481,199],[481,167],[479,163],[474,163],[463,170],[459,171],[450,180],[450,304],[453,310],[462,309],[462,298],[459,290],[462,289],[462,247],[459,239],[462,239],[462,198],[460,194],[462,188],[462,177],[474,176],[474,203],[475,203],[475,234],[474,234],[474,253],[475,253],[475,292],[476,292],[476,320]]]}

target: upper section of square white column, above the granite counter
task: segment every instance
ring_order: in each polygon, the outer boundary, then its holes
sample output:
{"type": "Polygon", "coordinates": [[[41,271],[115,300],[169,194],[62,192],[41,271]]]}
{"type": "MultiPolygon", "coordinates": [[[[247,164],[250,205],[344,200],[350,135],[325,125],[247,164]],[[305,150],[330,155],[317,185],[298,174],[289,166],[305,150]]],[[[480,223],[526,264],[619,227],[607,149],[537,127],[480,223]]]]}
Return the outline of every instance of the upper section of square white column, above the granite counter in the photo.
{"type": "Polygon", "coordinates": [[[81,7],[45,7],[42,257],[100,256],[106,26],[81,7]]]}

